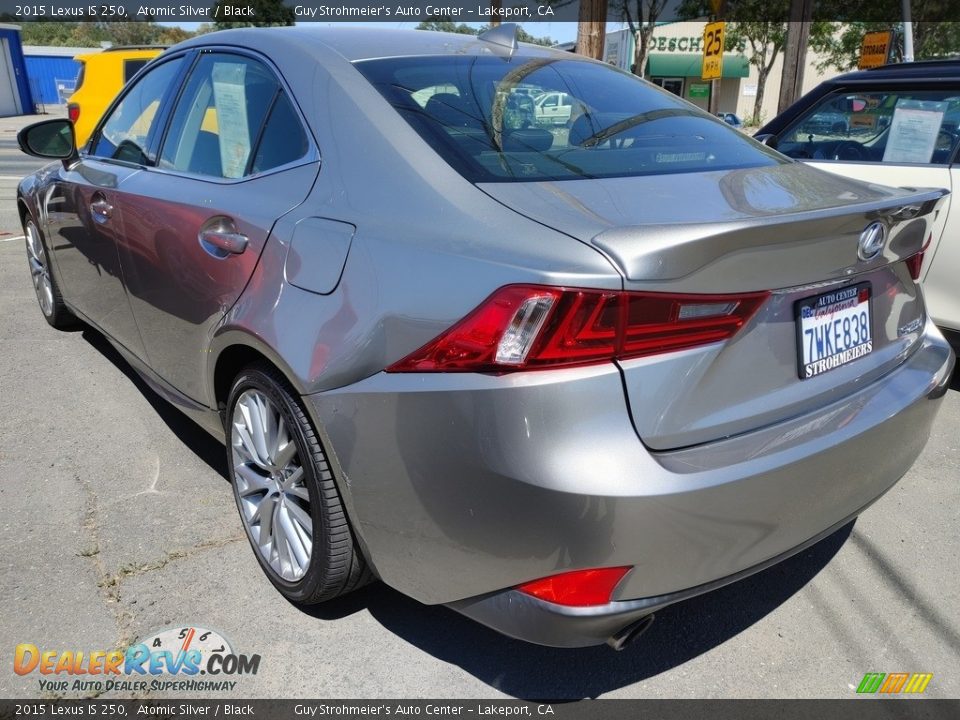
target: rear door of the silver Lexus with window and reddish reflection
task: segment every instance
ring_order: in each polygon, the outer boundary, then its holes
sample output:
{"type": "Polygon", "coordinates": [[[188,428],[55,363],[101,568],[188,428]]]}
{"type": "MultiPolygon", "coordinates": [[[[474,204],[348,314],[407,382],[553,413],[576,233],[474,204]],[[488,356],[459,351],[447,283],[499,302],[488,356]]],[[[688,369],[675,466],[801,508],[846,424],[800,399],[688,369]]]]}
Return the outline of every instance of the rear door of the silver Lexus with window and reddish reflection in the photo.
{"type": "Polygon", "coordinates": [[[157,162],[117,203],[120,255],[151,368],[203,401],[205,348],[240,296],[278,218],[306,198],[319,160],[269,64],[197,55],[157,162]]]}

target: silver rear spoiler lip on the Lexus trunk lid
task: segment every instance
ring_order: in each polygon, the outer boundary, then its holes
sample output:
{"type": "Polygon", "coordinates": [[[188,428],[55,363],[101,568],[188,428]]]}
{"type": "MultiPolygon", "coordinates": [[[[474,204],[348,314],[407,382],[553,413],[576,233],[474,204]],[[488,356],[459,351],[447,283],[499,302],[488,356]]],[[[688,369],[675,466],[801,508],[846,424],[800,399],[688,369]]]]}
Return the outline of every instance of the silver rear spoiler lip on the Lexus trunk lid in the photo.
{"type": "MultiPolygon", "coordinates": [[[[792,214],[721,223],[606,230],[591,241],[628,281],[675,284],[686,292],[749,292],[836,280],[905,260],[926,244],[949,190],[902,195],[792,214]],[[858,257],[873,223],[885,231],[878,255],[858,257]]],[[[743,204],[739,198],[738,204],[743,204]]]]}

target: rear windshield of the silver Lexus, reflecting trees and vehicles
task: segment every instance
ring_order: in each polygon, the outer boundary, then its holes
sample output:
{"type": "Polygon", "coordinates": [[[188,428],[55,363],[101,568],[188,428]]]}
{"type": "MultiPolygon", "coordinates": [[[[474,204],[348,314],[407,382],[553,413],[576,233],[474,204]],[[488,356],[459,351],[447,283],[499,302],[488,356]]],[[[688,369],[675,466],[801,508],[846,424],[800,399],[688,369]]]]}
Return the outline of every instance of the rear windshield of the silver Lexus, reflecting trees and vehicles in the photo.
{"type": "Polygon", "coordinates": [[[781,162],[639,78],[574,59],[408,57],[356,67],[472,182],[628,177],[781,162]]]}

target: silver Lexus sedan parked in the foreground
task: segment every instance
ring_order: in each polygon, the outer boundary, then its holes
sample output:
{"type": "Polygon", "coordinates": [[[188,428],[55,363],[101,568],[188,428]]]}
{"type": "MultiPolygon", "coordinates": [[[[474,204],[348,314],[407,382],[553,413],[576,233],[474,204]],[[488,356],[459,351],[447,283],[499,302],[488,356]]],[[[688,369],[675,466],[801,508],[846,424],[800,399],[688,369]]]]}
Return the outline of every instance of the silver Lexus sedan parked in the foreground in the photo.
{"type": "Polygon", "coordinates": [[[297,603],[379,578],[622,647],[886,492],[954,364],[915,283],[946,191],[510,26],[204,35],[79,152],[63,119],[19,141],[57,160],[17,194],[44,317],[224,441],[297,603]]]}

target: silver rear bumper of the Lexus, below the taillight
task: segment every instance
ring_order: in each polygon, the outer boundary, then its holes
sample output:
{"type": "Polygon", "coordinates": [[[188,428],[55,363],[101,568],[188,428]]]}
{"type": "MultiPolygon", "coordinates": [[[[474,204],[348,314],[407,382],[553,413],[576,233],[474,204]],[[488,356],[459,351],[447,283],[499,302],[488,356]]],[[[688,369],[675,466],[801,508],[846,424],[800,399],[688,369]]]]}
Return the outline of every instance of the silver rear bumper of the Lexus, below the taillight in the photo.
{"type": "Polygon", "coordinates": [[[854,517],[919,455],[954,357],[928,324],[896,370],[815,412],[651,452],[614,367],[380,374],[307,396],[381,578],[509,635],[603,641],[658,607],[766,567],[854,517]],[[614,602],[510,588],[631,565],[614,602]]]}

